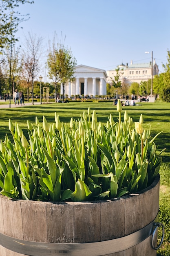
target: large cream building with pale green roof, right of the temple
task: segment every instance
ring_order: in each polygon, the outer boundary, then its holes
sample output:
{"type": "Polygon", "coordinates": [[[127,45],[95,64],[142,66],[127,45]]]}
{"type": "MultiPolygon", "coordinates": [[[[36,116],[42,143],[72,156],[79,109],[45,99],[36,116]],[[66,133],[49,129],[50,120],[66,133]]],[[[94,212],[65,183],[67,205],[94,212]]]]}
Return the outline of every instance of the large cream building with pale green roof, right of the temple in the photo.
{"type": "MultiPolygon", "coordinates": [[[[131,84],[133,82],[140,83],[141,81],[148,81],[152,78],[152,63],[137,63],[133,64],[132,61],[130,65],[128,63],[126,65],[121,64],[120,67],[120,77],[119,80],[122,83],[131,84]],[[123,69],[123,71],[121,70],[123,69]]],[[[108,78],[107,83],[111,83],[116,75],[116,70],[108,70],[107,72],[108,78]]],[[[153,61],[153,76],[159,74],[158,65],[155,63],[155,59],[153,61]]]]}

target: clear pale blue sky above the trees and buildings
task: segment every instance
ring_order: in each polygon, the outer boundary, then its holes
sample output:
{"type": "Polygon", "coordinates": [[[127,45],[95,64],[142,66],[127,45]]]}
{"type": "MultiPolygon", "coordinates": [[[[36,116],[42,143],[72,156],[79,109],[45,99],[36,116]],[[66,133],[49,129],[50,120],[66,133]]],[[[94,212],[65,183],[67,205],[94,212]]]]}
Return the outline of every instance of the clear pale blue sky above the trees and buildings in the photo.
{"type": "Polygon", "coordinates": [[[18,31],[20,43],[29,31],[44,38],[45,49],[54,31],[59,39],[62,32],[77,65],[110,70],[149,62],[152,51],[160,72],[167,62],[170,0],[34,0],[18,10],[30,14],[18,31]]]}

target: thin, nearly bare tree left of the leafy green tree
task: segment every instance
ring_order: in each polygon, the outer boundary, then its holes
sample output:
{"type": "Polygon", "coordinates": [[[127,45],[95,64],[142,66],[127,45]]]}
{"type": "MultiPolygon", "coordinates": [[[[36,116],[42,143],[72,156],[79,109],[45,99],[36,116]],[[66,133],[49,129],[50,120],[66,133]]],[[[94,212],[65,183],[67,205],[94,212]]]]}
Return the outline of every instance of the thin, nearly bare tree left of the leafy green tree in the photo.
{"type": "Polygon", "coordinates": [[[32,82],[32,103],[34,97],[34,79],[40,70],[40,56],[42,53],[42,37],[37,38],[28,33],[26,37],[26,47],[22,54],[22,79],[24,79],[28,86],[32,82]]]}

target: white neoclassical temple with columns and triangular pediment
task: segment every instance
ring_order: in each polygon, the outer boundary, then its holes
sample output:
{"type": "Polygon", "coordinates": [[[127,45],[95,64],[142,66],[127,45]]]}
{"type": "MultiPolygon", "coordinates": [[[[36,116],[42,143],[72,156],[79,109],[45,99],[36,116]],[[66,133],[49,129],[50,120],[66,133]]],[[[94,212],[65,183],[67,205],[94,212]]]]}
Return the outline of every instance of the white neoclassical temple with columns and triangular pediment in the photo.
{"type": "MultiPolygon", "coordinates": [[[[106,95],[106,79],[107,74],[105,70],[85,65],[78,65],[75,67],[75,80],[65,86],[64,94],[71,97],[71,95],[96,96],[106,95]]],[[[61,94],[63,88],[61,86],[61,94]]]]}

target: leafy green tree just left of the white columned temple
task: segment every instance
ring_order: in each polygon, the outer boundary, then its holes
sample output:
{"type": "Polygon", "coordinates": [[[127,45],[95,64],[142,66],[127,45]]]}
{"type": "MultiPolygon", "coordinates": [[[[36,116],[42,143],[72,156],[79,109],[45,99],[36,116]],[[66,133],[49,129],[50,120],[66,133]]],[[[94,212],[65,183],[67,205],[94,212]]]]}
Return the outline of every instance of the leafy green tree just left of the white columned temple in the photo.
{"type": "Polygon", "coordinates": [[[56,99],[56,85],[58,82],[63,87],[63,101],[64,89],[69,81],[73,81],[75,73],[75,65],[77,64],[75,57],[73,57],[71,49],[68,49],[63,44],[53,44],[53,50],[49,51],[47,58],[47,65],[49,68],[49,77],[55,80],[55,101],[56,99]]]}

